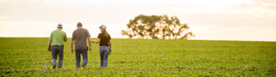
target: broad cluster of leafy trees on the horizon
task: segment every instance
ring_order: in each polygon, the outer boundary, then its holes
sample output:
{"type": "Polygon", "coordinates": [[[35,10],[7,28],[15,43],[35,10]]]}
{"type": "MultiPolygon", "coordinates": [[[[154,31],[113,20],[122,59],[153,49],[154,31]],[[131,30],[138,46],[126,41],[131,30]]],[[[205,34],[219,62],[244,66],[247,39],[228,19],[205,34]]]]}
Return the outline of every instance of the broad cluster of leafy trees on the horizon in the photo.
{"type": "Polygon", "coordinates": [[[190,36],[195,36],[192,32],[184,33],[189,29],[186,23],[180,23],[177,17],[168,17],[167,15],[140,14],[135,19],[130,19],[127,26],[128,30],[121,30],[121,34],[129,38],[188,39],[190,36]]]}

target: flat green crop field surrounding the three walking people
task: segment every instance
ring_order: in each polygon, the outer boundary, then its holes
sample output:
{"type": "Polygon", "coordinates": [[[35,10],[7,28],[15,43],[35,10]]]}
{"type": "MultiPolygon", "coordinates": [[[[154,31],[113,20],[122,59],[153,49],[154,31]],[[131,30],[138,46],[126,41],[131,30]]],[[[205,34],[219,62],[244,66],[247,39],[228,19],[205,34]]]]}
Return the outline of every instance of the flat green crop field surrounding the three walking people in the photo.
{"type": "Polygon", "coordinates": [[[99,67],[93,44],[88,66],[79,70],[70,40],[61,69],[52,69],[47,44],[0,38],[1,76],[276,76],[276,42],[112,39],[107,68],[99,67]]]}

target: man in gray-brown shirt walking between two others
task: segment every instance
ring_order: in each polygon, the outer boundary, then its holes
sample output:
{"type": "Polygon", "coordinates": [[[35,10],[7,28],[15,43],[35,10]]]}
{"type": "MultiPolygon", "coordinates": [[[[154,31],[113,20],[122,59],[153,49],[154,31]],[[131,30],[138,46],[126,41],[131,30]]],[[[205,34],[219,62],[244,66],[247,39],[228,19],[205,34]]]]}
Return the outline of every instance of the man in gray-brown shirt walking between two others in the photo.
{"type": "Polygon", "coordinates": [[[88,63],[88,46],[86,44],[86,39],[88,39],[89,43],[89,51],[91,51],[91,41],[90,41],[90,34],[88,30],[82,28],[82,24],[79,22],[77,23],[77,29],[72,34],[72,42],[71,42],[71,52],[74,53],[73,44],[75,42],[75,56],[76,56],[76,66],[79,67],[86,67],[88,63]],[[83,57],[83,63],[81,62],[81,55],[83,57]]]}

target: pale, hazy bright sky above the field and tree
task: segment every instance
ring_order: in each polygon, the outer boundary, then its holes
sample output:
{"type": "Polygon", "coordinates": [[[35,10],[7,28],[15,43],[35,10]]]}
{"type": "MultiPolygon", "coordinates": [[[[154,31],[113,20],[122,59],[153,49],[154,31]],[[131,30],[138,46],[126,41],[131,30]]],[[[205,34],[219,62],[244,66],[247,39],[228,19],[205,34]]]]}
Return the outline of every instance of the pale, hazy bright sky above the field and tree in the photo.
{"type": "Polygon", "coordinates": [[[139,14],[178,17],[195,40],[276,41],[276,0],[0,0],[0,37],[68,37],[83,23],[92,38],[104,24],[112,38],[139,14]]]}

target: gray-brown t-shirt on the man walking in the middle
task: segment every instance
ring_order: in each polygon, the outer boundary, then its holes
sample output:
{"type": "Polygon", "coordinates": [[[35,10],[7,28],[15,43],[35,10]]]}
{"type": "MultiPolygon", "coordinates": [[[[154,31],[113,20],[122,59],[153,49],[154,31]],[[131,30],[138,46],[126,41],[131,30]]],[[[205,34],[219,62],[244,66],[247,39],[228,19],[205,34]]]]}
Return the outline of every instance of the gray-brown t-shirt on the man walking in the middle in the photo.
{"type": "Polygon", "coordinates": [[[75,40],[75,50],[86,50],[86,38],[90,37],[88,30],[77,28],[72,34],[72,41],[75,40]]]}

